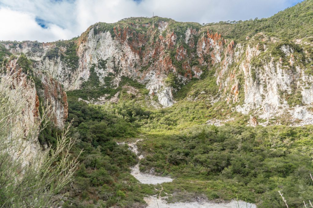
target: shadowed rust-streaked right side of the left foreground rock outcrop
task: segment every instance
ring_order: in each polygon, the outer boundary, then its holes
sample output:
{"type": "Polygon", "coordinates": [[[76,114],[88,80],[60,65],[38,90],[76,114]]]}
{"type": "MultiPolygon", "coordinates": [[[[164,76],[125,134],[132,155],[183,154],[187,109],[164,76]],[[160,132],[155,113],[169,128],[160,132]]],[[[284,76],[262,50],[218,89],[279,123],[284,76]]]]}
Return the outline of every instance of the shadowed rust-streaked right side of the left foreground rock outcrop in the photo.
{"type": "MultiPolygon", "coordinates": [[[[32,138],[34,145],[30,145],[30,147],[33,154],[39,153],[41,148],[46,148],[47,145],[53,145],[56,142],[55,133],[64,127],[68,117],[66,92],[62,85],[49,73],[34,69],[34,61],[29,60],[24,54],[14,56],[8,51],[6,54],[11,56],[4,59],[3,70],[0,71],[0,75],[15,73],[16,84],[14,85],[25,86],[25,89],[15,89],[17,95],[22,94],[28,97],[28,103],[23,108],[23,119],[20,119],[20,125],[16,128],[17,131],[25,132],[25,134],[28,134],[28,129],[35,128],[36,133],[32,138]],[[20,80],[23,82],[21,83],[20,80]],[[45,125],[41,125],[40,128],[44,130],[38,135],[38,126],[36,129],[36,125],[42,119],[48,122],[48,127],[43,128],[45,125]]],[[[16,98],[16,102],[18,102],[17,100],[18,98],[16,98]]],[[[32,135],[32,133],[30,134],[32,135]]]]}

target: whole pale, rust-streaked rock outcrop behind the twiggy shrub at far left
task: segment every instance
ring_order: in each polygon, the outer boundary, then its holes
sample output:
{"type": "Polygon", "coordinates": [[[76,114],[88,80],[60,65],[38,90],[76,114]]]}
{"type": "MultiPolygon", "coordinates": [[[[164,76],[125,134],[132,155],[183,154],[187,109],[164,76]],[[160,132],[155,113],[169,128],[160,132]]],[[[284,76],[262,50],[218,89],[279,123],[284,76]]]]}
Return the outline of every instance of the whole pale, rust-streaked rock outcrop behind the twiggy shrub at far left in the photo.
{"type": "Polygon", "coordinates": [[[4,149],[7,148],[11,157],[24,158],[23,165],[42,154],[42,145],[48,145],[49,141],[38,139],[39,129],[45,126],[43,120],[48,116],[52,118],[54,125],[61,128],[68,115],[66,93],[61,85],[52,78],[47,79],[38,71],[34,75],[30,63],[31,61],[21,55],[9,60],[0,73],[4,86],[1,89],[2,119],[8,120],[7,125],[12,131],[5,132],[8,134],[4,137],[7,141],[2,141],[2,145],[4,149]],[[60,98],[63,99],[62,103],[60,98]],[[40,102],[48,109],[43,111],[40,102]]]}

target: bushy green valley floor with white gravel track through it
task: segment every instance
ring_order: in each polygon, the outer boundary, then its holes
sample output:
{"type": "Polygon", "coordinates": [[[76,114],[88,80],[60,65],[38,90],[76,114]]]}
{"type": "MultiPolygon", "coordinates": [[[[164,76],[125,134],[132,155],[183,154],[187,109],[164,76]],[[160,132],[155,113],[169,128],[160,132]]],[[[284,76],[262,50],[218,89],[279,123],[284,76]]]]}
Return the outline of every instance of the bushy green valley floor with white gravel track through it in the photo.
{"type": "Polygon", "coordinates": [[[72,135],[85,152],[75,204],[64,208],[284,207],[278,191],[290,207],[311,200],[313,126],[250,127],[245,117],[207,125],[217,111],[175,106],[70,100],[72,135]]]}

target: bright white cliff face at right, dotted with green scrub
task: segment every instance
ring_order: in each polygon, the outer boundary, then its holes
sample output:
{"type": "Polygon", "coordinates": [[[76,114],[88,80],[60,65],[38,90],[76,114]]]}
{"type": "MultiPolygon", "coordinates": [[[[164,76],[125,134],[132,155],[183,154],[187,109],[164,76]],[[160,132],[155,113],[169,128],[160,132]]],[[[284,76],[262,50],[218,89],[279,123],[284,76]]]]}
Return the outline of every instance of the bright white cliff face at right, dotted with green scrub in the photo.
{"type": "Polygon", "coordinates": [[[243,47],[240,44],[228,45],[221,68],[216,73],[222,96],[228,102],[232,100],[233,103],[237,103],[238,94],[243,90],[244,102],[234,108],[238,112],[256,114],[266,120],[283,115],[288,117],[287,113],[293,122],[299,119],[301,124],[311,123],[310,113],[306,109],[313,102],[312,76],[305,74],[304,65],[295,65],[298,57],[290,45],[283,44],[279,50],[285,56],[276,57],[267,50],[270,44],[278,43],[280,40],[263,34],[259,36],[262,38],[258,39],[258,36],[251,38],[245,53],[242,53],[243,47]],[[255,41],[258,40],[264,44],[256,44],[255,41]],[[243,58],[238,62],[240,56],[243,58]],[[259,65],[254,65],[255,60],[259,61],[259,65]],[[231,71],[229,65],[234,62],[238,63],[239,67],[231,71]],[[244,75],[244,83],[239,83],[237,79],[241,73],[244,75]],[[298,96],[297,94],[301,94],[302,104],[305,105],[301,107],[300,113],[299,107],[290,106],[286,99],[298,96]]]}

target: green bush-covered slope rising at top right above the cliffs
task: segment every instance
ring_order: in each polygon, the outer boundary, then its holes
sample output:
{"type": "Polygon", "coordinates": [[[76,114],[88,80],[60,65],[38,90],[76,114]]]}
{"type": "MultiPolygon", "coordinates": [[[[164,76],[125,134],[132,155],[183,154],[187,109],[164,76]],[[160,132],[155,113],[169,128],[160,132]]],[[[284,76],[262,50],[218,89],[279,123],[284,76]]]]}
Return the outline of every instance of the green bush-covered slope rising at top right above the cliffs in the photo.
{"type": "Polygon", "coordinates": [[[293,7],[280,11],[269,18],[238,22],[209,23],[210,29],[216,30],[225,38],[244,41],[246,36],[259,32],[271,33],[290,40],[313,36],[312,31],[313,2],[303,1],[293,7]]]}

